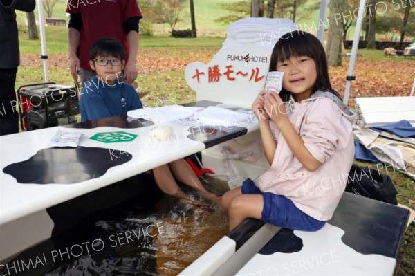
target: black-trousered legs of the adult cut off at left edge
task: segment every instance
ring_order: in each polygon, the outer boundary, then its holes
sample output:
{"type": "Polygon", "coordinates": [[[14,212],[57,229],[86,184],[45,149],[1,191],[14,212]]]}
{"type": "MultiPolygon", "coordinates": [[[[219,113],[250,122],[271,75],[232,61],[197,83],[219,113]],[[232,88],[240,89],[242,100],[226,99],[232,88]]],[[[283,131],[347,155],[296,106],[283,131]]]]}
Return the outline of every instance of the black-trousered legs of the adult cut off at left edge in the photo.
{"type": "Polygon", "coordinates": [[[0,69],[0,136],[19,132],[19,115],[15,109],[17,68],[0,69]]]}

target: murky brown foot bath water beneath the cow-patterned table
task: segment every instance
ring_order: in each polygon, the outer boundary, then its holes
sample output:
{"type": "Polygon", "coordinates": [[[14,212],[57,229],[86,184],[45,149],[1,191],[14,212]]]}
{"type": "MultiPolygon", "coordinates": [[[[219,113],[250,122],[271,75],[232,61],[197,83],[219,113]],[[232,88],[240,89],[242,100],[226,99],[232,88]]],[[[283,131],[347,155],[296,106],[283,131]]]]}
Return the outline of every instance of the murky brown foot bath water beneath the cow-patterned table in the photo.
{"type": "MultiPolygon", "coordinates": [[[[216,194],[227,190],[213,178],[204,185],[216,194]]],[[[178,275],[227,233],[228,216],[219,205],[201,208],[161,195],[149,208],[133,199],[26,250],[9,264],[32,259],[33,269],[7,275],[178,275]],[[36,257],[42,262],[35,265],[36,257]]]]}

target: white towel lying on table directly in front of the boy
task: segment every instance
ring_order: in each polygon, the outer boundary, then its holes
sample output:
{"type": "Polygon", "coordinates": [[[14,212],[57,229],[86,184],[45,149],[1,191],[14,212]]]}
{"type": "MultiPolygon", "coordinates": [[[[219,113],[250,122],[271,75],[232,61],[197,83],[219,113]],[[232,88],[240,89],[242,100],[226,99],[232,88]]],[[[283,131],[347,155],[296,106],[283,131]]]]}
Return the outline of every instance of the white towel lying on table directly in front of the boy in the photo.
{"type": "Polygon", "coordinates": [[[144,118],[153,122],[173,122],[191,116],[203,107],[183,107],[181,105],[169,105],[166,107],[145,107],[143,109],[130,110],[129,117],[144,118]]]}

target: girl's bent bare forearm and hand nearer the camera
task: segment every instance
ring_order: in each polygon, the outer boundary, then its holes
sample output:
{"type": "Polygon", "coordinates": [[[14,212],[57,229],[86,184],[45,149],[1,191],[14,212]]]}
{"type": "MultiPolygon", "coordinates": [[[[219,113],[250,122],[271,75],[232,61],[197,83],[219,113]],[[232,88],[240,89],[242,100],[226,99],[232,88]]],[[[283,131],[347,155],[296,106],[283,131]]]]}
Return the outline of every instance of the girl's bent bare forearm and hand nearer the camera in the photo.
{"type": "Polygon", "coordinates": [[[284,102],[277,93],[269,93],[267,100],[264,102],[264,107],[270,114],[270,119],[273,120],[275,125],[279,128],[288,147],[293,151],[294,156],[299,160],[302,165],[310,172],[314,172],[318,169],[322,163],[317,160],[310,151],[304,145],[304,140],[295,131],[293,124],[291,124],[286,114],[284,102]]]}

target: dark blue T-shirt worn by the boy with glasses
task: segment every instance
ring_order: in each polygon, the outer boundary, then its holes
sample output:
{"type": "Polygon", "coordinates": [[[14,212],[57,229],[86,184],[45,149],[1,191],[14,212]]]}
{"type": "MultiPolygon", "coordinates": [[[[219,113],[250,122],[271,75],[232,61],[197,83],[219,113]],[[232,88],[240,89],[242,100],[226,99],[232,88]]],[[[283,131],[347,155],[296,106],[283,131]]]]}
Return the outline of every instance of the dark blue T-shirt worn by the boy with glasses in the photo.
{"type": "Polygon", "coordinates": [[[97,77],[93,77],[89,84],[82,89],[81,122],[119,116],[142,108],[138,93],[130,84],[116,80],[113,86],[109,86],[97,77]]]}

